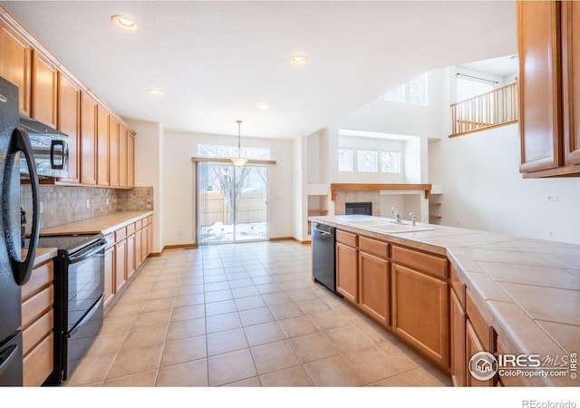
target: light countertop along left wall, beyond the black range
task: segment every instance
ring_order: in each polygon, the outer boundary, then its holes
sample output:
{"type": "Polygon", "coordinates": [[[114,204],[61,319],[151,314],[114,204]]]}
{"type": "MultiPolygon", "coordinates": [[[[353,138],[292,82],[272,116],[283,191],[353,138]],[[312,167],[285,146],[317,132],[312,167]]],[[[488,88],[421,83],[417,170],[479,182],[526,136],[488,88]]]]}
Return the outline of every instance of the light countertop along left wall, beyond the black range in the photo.
{"type": "Polygon", "coordinates": [[[123,211],[113,212],[101,217],[82,219],[81,221],[55,225],[43,228],[41,234],[71,235],[71,234],[109,234],[116,229],[123,228],[139,219],[149,217],[153,211],[123,211]]]}

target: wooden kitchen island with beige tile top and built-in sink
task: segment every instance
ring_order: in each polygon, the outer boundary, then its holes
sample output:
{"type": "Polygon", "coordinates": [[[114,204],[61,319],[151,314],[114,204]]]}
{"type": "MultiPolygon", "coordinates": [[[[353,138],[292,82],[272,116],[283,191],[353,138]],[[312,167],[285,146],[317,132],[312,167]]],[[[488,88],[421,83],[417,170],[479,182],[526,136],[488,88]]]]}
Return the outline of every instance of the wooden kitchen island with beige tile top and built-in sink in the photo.
{"type": "Polygon", "coordinates": [[[580,385],[580,246],[421,223],[385,232],[392,219],[360,215],[310,220],[337,229],[338,292],[454,384],[580,385]],[[351,274],[342,288],[341,274],[351,274]],[[502,356],[499,375],[470,374],[481,351],[502,356]]]}

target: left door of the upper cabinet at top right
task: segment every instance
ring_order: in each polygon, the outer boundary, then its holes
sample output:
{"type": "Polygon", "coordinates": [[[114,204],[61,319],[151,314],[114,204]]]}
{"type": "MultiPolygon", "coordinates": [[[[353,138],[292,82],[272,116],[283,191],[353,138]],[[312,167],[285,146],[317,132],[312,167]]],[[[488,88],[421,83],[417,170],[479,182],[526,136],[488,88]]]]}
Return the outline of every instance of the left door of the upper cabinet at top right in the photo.
{"type": "Polygon", "coordinates": [[[517,2],[520,172],[562,164],[559,2],[517,2]]]}

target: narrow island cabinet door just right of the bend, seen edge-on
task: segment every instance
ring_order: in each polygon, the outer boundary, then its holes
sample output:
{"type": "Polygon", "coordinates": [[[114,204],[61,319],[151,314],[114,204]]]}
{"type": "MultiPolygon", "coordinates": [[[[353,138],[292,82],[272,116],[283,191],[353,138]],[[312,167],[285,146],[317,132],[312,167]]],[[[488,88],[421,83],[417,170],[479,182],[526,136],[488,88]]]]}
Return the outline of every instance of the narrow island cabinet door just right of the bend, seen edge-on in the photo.
{"type": "Polygon", "coordinates": [[[453,290],[450,291],[449,326],[451,330],[451,381],[456,387],[465,386],[465,311],[453,290]]]}

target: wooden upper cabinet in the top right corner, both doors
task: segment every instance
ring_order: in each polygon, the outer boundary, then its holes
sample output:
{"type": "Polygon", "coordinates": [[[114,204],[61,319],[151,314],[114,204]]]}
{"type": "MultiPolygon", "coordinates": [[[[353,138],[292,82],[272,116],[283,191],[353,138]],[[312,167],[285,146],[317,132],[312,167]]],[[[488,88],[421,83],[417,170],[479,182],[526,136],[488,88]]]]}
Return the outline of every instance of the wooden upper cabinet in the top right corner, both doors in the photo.
{"type": "Polygon", "coordinates": [[[524,177],[580,175],[577,118],[580,46],[575,2],[518,1],[520,172],[524,177]],[[577,57],[576,57],[577,60],[577,57]]]}

